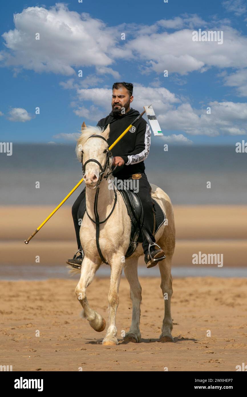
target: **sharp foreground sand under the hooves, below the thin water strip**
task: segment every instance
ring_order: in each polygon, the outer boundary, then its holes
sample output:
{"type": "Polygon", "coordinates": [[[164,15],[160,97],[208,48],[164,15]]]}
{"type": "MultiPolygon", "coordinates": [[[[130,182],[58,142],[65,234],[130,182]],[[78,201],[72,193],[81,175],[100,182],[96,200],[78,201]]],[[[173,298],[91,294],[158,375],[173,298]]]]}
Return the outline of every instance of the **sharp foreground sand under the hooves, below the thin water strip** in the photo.
{"type": "MultiPolygon", "coordinates": [[[[140,279],[140,343],[123,343],[132,304],[126,279],[120,284],[117,346],[101,345],[82,320],[74,289],[77,278],[47,281],[2,281],[1,364],[13,371],[236,371],[247,357],[247,280],[174,279],[174,343],[158,341],[163,297],[158,278],[140,279]],[[35,336],[37,330],[40,336],[35,336]],[[207,337],[208,330],[211,337],[207,337]]],[[[108,279],[95,279],[88,301],[108,317],[108,279]]]]}

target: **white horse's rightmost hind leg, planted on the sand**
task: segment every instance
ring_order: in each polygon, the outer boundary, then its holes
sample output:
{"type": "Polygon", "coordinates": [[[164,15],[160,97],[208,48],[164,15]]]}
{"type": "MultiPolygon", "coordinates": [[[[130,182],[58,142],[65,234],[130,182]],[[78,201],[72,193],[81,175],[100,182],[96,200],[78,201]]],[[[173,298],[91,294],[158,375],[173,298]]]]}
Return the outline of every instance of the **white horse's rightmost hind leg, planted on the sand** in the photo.
{"type": "Polygon", "coordinates": [[[159,262],[159,271],[161,274],[161,289],[165,302],[165,315],[163,319],[159,341],[173,342],[173,337],[171,334],[173,325],[172,325],[172,316],[170,312],[170,301],[172,297],[172,275],[170,272],[172,255],[166,252],[166,256],[167,256],[166,259],[159,262]]]}

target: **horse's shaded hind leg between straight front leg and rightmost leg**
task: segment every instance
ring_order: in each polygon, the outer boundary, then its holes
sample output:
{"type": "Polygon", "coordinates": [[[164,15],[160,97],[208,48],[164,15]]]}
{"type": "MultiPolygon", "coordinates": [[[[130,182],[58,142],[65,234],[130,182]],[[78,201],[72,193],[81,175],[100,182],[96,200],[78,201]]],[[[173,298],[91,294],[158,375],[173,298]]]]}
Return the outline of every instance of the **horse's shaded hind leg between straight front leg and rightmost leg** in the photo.
{"type": "Polygon", "coordinates": [[[130,285],[130,298],[132,301],[132,320],[130,330],[125,334],[124,341],[140,342],[141,333],[139,329],[142,301],[142,287],[138,280],[137,272],[138,258],[127,259],[124,263],[124,274],[130,285]]]}

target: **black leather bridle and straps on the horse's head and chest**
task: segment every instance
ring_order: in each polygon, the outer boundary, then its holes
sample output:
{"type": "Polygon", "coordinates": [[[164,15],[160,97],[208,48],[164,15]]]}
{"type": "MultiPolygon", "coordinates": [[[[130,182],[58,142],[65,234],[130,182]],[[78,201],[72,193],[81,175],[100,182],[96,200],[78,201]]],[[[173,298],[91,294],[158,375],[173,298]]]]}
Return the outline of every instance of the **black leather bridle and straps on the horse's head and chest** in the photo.
{"type": "MultiPolygon", "coordinates": [[[[96,135],[96,134],[94,134],[94,135],[90,135],[89,138],[101,138],[101,139],[103,139],[105,142],[107,142],[107,140],[106,140],[104,137],[102,137],[102,135],[96,135]]],[[[107,263],[106,260],[104,259],[103,255],[102,255],[102,252],[101,252],[101,249],[100,249],[100,242],[99,242],[99,239],[100,239],[100,224],[105,223],[105,222],[107,221],[107,219],[109,219],[109,217],[111,216],[111,214],[112,214],[113,211],[114,211],[115,205],[116,205],[116,203],[117,203],[117,193],[116,193],[116,191],[115,191],[115,185],[113,184],[113,189],[114,189],[114,193],[115,193],[115,200],[114,200],[113,208],[112,208],[111,212],[109,213],[109,215],[107,216],[107,218],[105,218],[105,220],[104,220],[104,221],[101,221],[101,222],[100,222],[100,218],[99,218],[99,214],[98,214],[98,196],[99,196],[99,191],[100,191],[100,182],[101,182],[103,179],[106,179],[106,178],[117,168],[117,166],[115,166],[115,168],[113,168],[113,170],[112,170],[111,172],[109,172],[109,173],[107,173],[106,175],[104,175],[105,171],[106,171],[108,168],[110,168],[110,158],[111,158],[111,156],[112,156],[112,153],[111,153],[111,151],[109,150],[109,148],[107,148],[106,159],[105,159],[105,165],[104,165],[104,167],[102,167],[101,164],[100,164],[100,162],[98,162],[98,160],[96,160],[95,158],[90,158],[89,160],[87,160],[87,161],[83,164],[83,153],[82,153],[82,155],[81,155],[81,163],[82,163],[82,173],[83,173],[83,177],[84,177],[84,175],[85,175],[85,167],[86,167],[86,164],[88,164],[89,162],[95,162],[96,164],[98,164],[98,166],[100,167],[100,170],[101,170],[101,173],[100,173],[100,176],[99,176],[97,185],[96,185],[97,188],[96,188],[96,194],[95,194],[95,198],[94,198],[94,216],[95,216],[95,220],[93,220],[93,219],[90,217],[90,215],[88,214],[88,210],[87,210],[87,209],[86,209],[86,213],[87,213],[87,215],[88,215],[88,218],[89,218],[92,222],[94,222],[94,224],[96,225],[96,245],[97,245],[97,249],[98,249],[98,252],[99,252],[99,255],[100,255],[100,258],[101,258],[102,262],[104,262],[104,263],[107,264],[107,265],[108,265],[108,263],[107,263]]]]}

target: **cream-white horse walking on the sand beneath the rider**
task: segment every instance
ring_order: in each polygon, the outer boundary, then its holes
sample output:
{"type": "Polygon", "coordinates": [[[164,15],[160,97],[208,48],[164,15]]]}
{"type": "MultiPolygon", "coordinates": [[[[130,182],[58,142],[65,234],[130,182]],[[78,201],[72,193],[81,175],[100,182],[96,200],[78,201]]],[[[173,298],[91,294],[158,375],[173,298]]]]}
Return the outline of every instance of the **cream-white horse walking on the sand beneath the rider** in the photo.
{"type": "MultiPolygon", "coordinates": [[[[96,224],[92,222],[92,220],[95,220],[94,202],[96,188],[100,182],[100,189],[98,191],[98,216],[100,222],[105,220],[114,208],[109,218],[100,224],[100,251],[103,258],[111,266],[111,280],[108,294],[109,327],[102,343],[103,345],[117,345],[115,318],[119,304],[119,283],[123,269],[126,279],[130,284],[130,297],[132,300],[132,322],[124,340],[140,342],[141,339],[139,324],[142,288],[138,280],[137,263],[138,258],[143,255],[143,250],[142,244],[138,243],[136,251],[129,258],[124,257],[130,242],[131,224],[123,197],[116,189],[117,202],[114,207],[115,191],[109,189],[110,176],[107,176],[107,173],[111,169],[112,157],[109,156],[108,145],[105,141],[109,137],[109,132],[109,125],[104,132],[99,127],[87,127],[82,129],[82,134],[77,142],[77,156],[82,161],[82,164],[84,163],[85,165],[84,181],[86,183],[87,214],[85,213],[80,227],[80,241],[84,250],[84,259],[80,270],[80,280],[75,293],[82,305],[82,318],[86,318],[94,330],[98,332],[103,331],[105,329],[105,320],[89,306],[86,297],[86,288],[92,282],[96,271],[102,263],[96,245],[96,224]],[[91,137],[91,135],[101,135],[105,139],[91,137]],[[106,178],[102,179],[103,176],[106,176],[106,178]]],[[[171,262],[175,247],[174,216],[172,204],[167,194],[155,185],[151,185],[151,187],[152,197],[160,204],[168,220],[168,224],[161,225],[155,235],[157,243],[166,254],[166,258],[159,262],[161,290],[165,302],[165,316],[159,341],[167,342],[173,341],[171,335],[172,318],[170,300],[172,297],[171,262]]]]}

